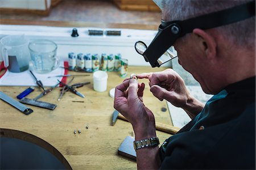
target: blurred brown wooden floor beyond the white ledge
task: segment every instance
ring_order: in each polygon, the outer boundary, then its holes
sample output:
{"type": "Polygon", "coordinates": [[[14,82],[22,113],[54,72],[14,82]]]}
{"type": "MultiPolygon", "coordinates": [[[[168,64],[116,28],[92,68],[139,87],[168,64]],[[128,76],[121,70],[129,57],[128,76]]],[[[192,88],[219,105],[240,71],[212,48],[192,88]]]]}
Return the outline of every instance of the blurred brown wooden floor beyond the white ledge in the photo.
{"type": "Polygon", "coordinates": [[[51,9],[49,16],[39,16],[35,14],[4,14],[0,12],[0,18],[13,20],[159,25],[161,13],[150,11],[122,11],[109,0],[64,0],[51,9]]]}

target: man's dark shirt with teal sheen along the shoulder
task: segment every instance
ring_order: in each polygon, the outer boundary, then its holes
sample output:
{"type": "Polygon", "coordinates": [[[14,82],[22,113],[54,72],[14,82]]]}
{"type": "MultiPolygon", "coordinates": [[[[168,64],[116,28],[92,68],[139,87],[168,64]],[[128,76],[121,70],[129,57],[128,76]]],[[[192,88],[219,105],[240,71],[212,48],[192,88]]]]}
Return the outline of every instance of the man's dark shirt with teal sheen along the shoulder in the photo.
{"type": "Polygon", "coordinates": [[[160,158],[160,169],[255,169],[255,76],[214,95],[160,158]]]}

